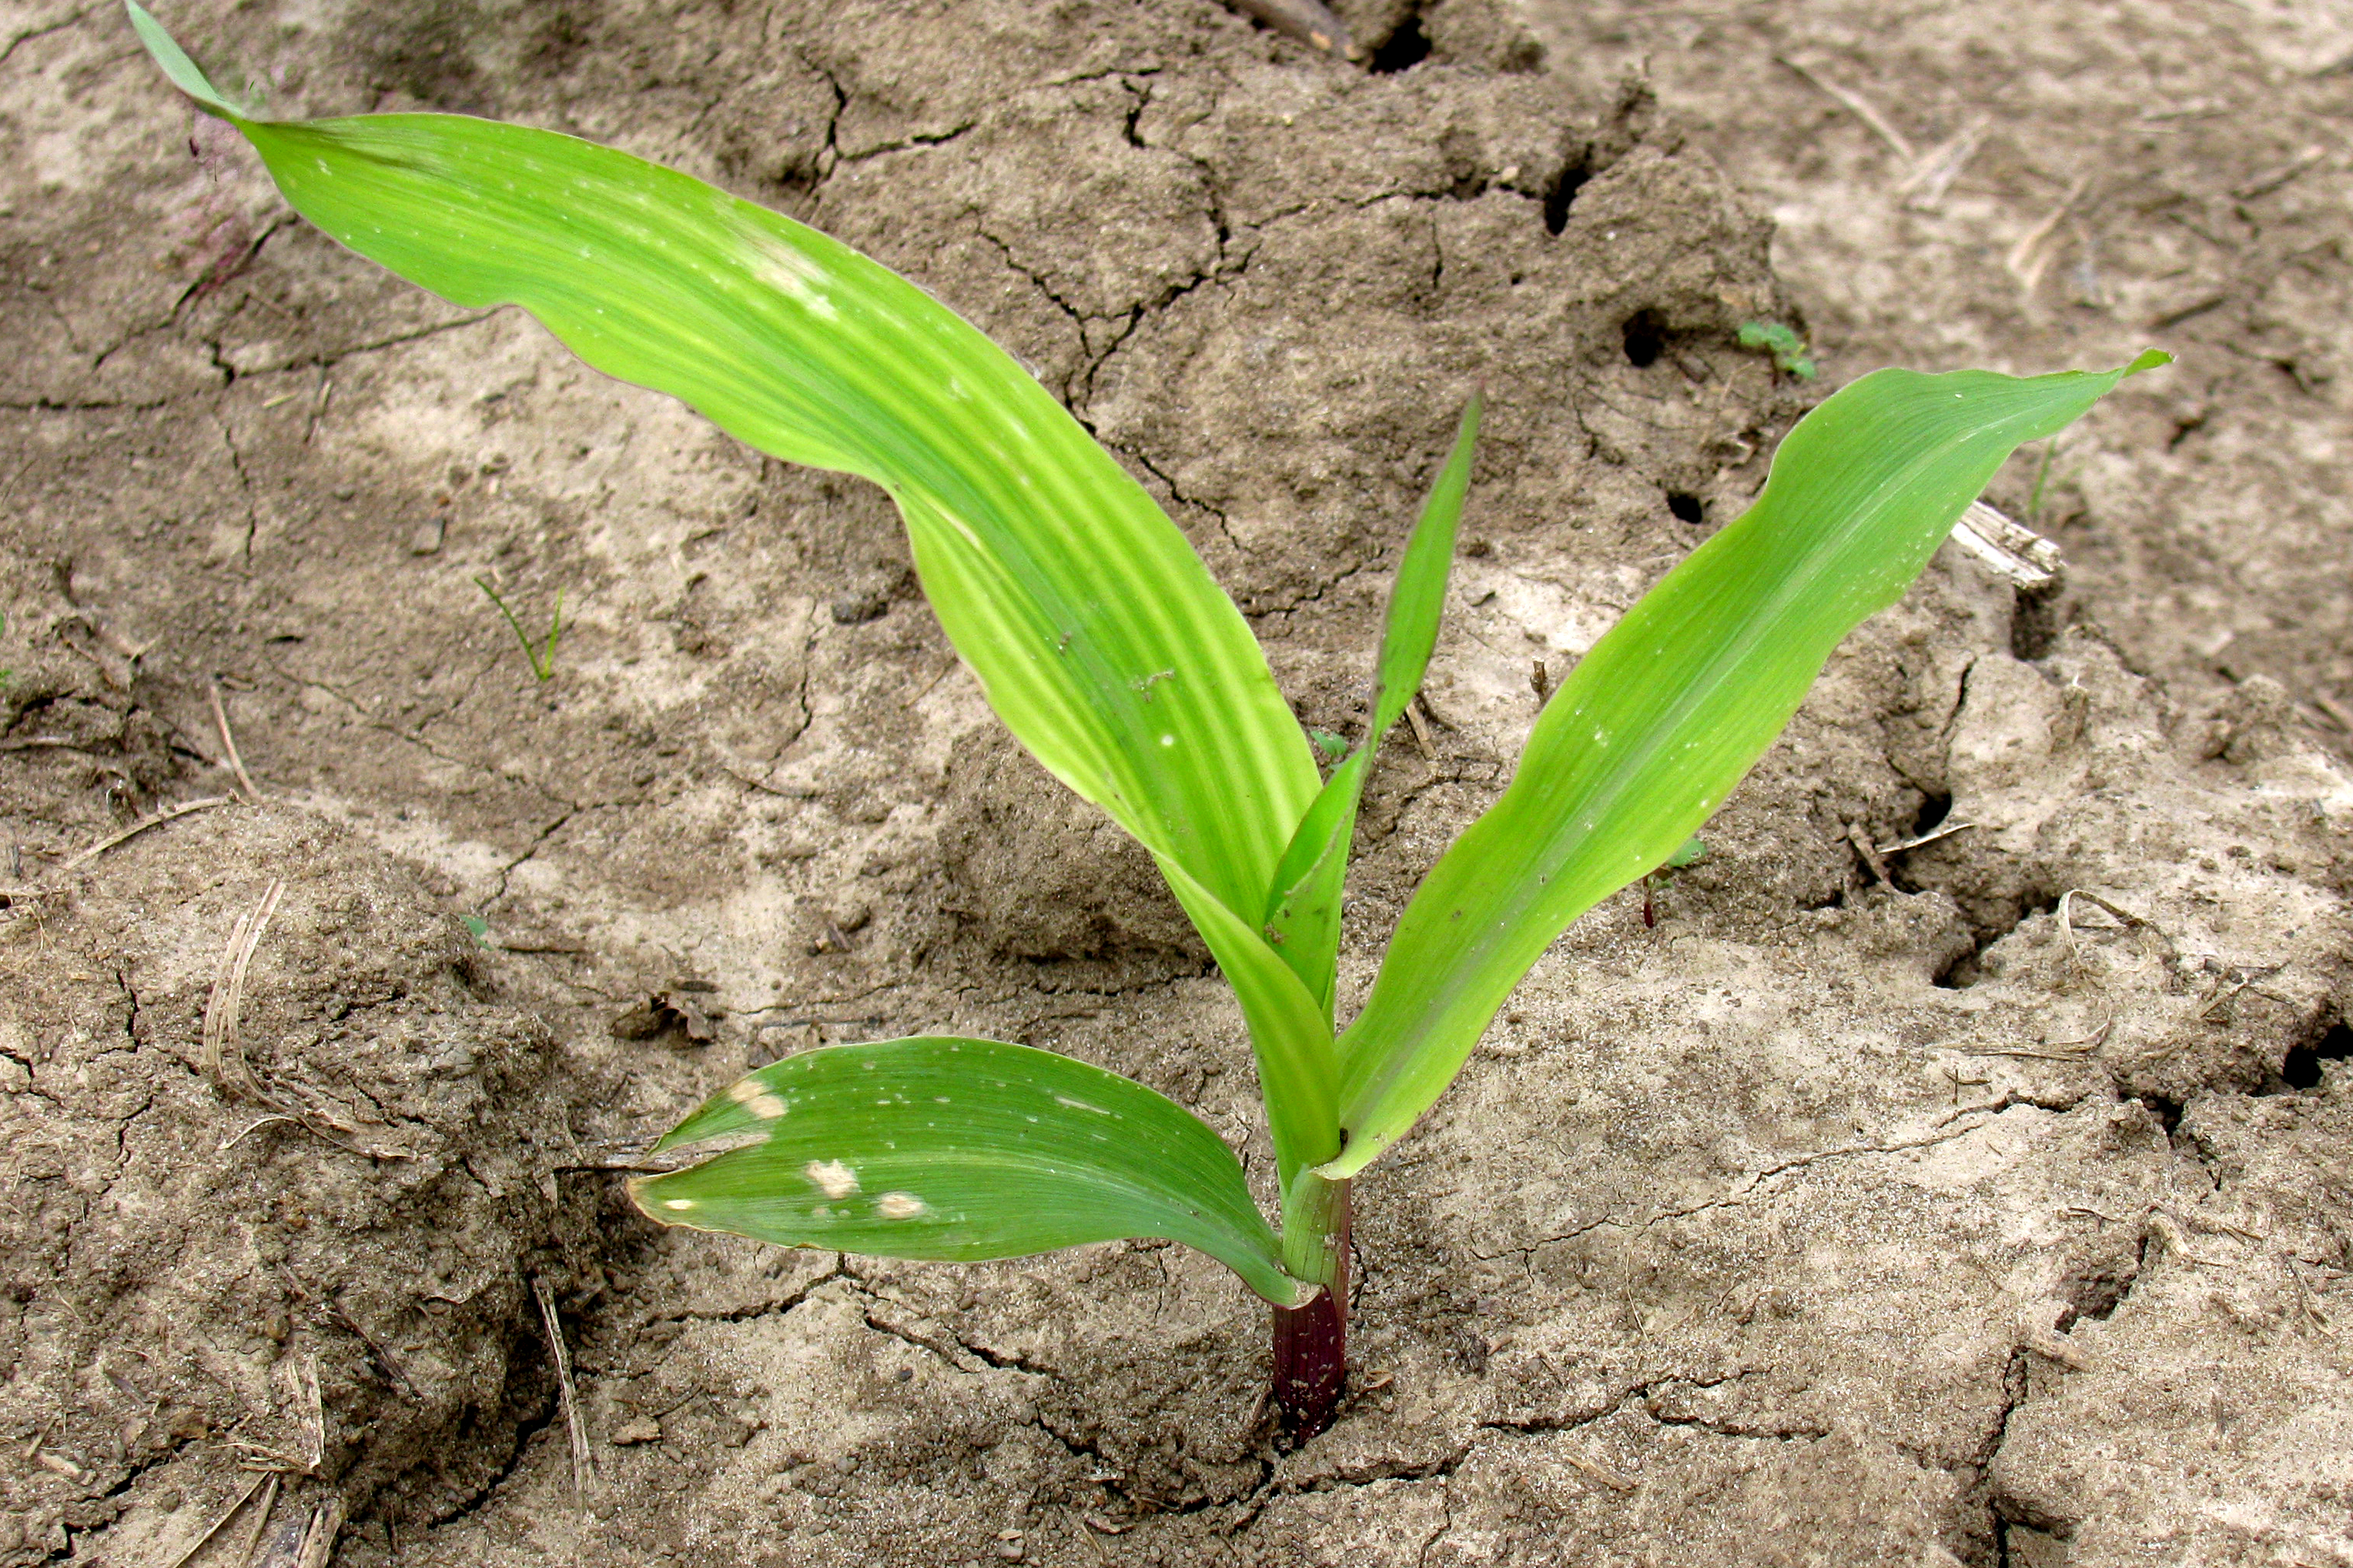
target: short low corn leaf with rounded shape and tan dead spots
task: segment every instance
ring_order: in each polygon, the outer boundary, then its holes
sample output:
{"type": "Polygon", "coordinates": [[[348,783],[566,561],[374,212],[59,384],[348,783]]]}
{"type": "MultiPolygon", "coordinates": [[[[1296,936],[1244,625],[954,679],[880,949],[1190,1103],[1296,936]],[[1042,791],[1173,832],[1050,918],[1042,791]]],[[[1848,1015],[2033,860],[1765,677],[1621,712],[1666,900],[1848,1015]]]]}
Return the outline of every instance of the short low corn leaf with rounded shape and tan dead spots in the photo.
{"type": "Polygon", "coordinates": [[[628,1185],[664,1225],[873,1258],[979,1262],[1165,1237],[1266,1300],[1282,1272],[1233,1150],[1144,1084],[993,1039],[826,1046],[760,1067],[656,1145],[727,1152],[628,1185]]]}

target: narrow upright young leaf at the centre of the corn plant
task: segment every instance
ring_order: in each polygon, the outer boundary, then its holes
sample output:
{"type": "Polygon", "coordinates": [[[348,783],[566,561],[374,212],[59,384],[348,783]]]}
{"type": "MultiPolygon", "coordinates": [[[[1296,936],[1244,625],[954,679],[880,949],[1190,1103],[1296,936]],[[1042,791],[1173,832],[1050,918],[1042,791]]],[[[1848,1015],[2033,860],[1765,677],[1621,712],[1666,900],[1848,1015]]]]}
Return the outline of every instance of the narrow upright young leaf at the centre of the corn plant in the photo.
{"type": "Polygon", "coordinates": [[[1454,567],[1454,534],[1471,489],[1478,421],[1480,397],[1473,393],[1454,430],[1454,451],[1447,454],[1447,465],[1421,505],[1421,520],[1405,541],[1405,559],[1398,562],[1398,581],[1388,592],[1381,658],[1372,684],[1372,724],[1355,755],[1332,771],[1315,804],[1299,818],[1266,893],[1266,926],[1275,950],[1315,997],[1327,1023],[1339,985],[1339,914],[1348,846],[1355,839],[1355,809],[1365,799],[1374,748],[1421,691],[1431,649],[1438,646],[1438,618],[1447,607],[1447,574],[1454,567]]]}

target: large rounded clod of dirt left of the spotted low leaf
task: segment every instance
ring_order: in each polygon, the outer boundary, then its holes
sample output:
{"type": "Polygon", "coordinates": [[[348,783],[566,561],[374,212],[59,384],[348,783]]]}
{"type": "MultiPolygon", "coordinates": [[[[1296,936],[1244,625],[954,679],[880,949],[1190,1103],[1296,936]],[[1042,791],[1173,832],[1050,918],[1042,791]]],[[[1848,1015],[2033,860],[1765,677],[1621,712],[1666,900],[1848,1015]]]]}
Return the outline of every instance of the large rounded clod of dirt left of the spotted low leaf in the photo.
{"type": "Polygon", "coordinates": [[[240,1465],[409,1526],[475,1500],[546,1406],[522,1260],[565,1128],[468,931],[351,832],[224,806],[0,945],[0,1443],[40,1460],[0,1474],[0,1563],[172,1561],[240,1465]]]}

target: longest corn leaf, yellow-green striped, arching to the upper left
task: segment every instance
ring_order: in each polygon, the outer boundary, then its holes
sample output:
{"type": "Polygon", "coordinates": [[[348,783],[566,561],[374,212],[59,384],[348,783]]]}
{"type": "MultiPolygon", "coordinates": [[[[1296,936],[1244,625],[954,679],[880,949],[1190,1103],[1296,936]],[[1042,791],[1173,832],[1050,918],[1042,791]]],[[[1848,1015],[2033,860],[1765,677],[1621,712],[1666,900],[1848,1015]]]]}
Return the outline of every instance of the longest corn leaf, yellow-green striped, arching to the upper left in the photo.
{"type": "MultiPolygon", "coordinates": [[[[1231,914],[1202,931],[1228,973],[1264,969],[1249,950],[1315,757],[1176,524],[1009,355],[849,247],[673,169],[459,115],[247,120],[136,5],[132,21],[351,249],[461,306],[522,306],[760,451],[885,487],[1005,724],[1179,867],[1188,907],[1231,914]]],[[[1329,1105],[1329,1020],[1301,1032],[1280,987],[1235,985],[1254,1037],[1273,1020],[1254,1039],[1268,1084],[1320,1077],[1329,1105]],[[1271,1051],[1299,1056],[1268,1072],[1271,1051]]],[[[1297,1164],[1339,1128],[1285,1107],[1275,1138],[1297,1164]]]]}

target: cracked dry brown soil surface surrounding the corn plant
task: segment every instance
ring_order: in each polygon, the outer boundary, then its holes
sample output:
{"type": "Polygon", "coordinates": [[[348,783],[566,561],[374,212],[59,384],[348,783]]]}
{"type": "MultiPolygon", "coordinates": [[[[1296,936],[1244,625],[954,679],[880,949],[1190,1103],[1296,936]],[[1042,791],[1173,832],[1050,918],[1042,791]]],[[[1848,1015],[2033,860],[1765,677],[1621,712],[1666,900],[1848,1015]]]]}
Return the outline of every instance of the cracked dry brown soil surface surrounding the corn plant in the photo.
{"type": "Polygon", "coordinates": [[[336,252],[111,7],[0,12],[0,1563],[292,1568],[313,1519],[353,1568],[2353,1563],[2353,28],[1344,9],[1379,68],[1191,2],[169,16],[287,110],[607,139],[906,270],[1318,729],[1485,383],[1344,1011],[1824,386],[2179,355],[1991,491],[2066,583],[1941,555],[1657,924],[1581,922],[1367,1173],[1355,1389],[1297,1450],[1195,1255],[619,1199],[746,1065],[915,1030],[1129,1072],[1252,1168],[1264,1124],[878,494],[336,252]],[[553,679],[478,578],[562,592],[553,679]]]}

